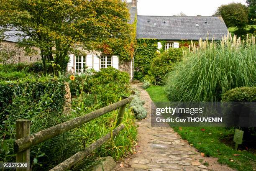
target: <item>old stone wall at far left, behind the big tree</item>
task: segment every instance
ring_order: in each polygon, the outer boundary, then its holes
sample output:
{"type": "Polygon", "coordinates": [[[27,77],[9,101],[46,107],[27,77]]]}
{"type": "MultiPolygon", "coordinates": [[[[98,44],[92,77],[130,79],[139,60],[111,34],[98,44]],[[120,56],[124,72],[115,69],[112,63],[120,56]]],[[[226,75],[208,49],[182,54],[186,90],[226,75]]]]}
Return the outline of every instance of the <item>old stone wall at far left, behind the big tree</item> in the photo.
{"type": "Polygon", "coordinates": [[[34,53],[32,55],[26,55],[24,48],[18,47],[17,43],[11,41],[0,42],[0,50],[10,50],[15,53],[13,59],[8,60],[6,63],[31,63],[39,61],[41,59],[40,50],[38,48],[34,48],[34,50],[36,50],[36,54],[34,53]]]}

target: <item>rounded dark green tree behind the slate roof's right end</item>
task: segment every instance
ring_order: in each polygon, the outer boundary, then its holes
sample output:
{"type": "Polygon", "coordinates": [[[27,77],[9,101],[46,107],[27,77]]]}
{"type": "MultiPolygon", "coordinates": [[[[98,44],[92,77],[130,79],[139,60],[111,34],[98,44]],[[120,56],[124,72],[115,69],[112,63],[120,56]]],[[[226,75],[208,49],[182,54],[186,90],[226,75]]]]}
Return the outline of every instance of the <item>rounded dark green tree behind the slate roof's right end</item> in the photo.
{"type": "Polygon", "coordinates": [[[221,15],[227,27],[243,28],[248,23],[248,10],[241,3],[221,5],[214,15],[221,15]]]}

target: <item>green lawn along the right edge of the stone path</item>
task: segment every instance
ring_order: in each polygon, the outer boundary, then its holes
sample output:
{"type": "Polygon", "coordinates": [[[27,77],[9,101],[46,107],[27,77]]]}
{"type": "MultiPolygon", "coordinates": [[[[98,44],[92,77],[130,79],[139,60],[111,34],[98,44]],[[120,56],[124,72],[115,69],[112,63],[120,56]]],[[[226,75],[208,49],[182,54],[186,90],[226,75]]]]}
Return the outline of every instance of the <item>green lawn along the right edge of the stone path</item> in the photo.
{"type": "MultiPolygon", "coordinates": [[[[164,87],[151,86],[146,90],[154,102],[167,101],[164,87]]],[[[256,168],[256,162],[248,159],[251,158],[256,161],[255,154],[243,149],[239,151],[233,149],[234,143],[232,143],[232,136],[234,129],[224,127],[174,127],[174,130],[183,139],[188,140],[190,145],[193,145],[200,152],[205,153],[206,157],[212,156],[218,158],[219,163],[227,164],[230,168],[236,168],[238,171],[253,171],[256,168]],[[223,143],[224,140],[229,140],[228,145],[223,143]],[[234,154],[241,156],[234,156],[234,154]]],[[[239,148],[241,148],[241,145],[239,148]]]]}

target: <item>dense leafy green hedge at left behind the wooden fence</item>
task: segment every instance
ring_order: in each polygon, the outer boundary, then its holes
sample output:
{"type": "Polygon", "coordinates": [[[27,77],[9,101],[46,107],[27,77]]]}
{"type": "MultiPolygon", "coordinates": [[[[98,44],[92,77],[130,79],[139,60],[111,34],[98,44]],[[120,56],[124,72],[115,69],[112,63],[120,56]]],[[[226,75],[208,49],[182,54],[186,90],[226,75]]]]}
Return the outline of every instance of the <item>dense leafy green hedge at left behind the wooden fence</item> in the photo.
{"type": "MultiPolygon", "coordinates": [[[[31,133],[38,132],[64,121],[64,84],[52,78],[29,78],[13,82],[0,82],[0,160],[15,161],[13,141],[15,140],[15,120],[31,120],[31,133]]],[[[31,148],[31,151],[45,153],[44,149],[60,146],[52,142],[31,148]]],[[[48,150],[50,151],[50,150],[48,150]]],[[[60,153],[65,156],[65,153],[60,153]]],[[[31,153],[33,160],[35,153],[31,153]]],[[[54,160],[54,158],[52,158],[54,160]]],[[[32,161],[31,161],[32,163],[32,161]]],[[[49,162],[50,163],[50,162],[49,162]]]]}

